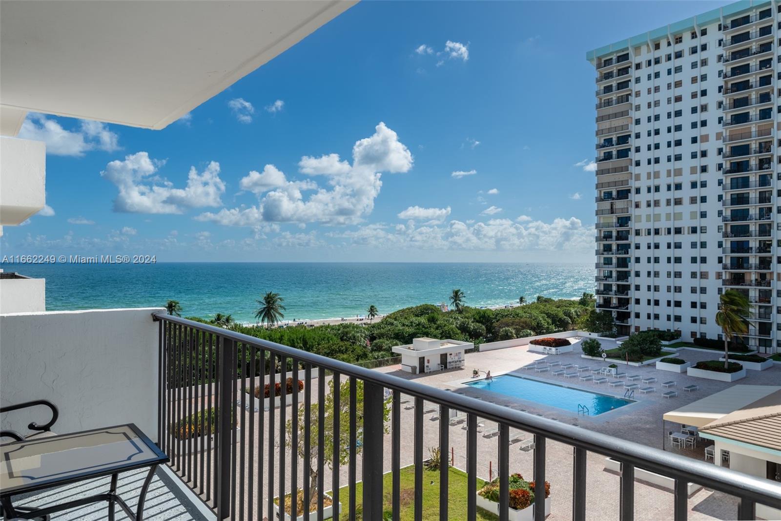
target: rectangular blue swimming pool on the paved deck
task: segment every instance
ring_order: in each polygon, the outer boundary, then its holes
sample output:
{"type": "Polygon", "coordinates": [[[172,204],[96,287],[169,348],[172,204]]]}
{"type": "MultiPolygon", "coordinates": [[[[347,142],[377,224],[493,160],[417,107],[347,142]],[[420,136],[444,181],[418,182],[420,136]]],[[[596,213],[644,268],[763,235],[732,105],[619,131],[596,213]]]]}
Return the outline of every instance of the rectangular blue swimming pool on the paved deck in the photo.
{"type": "Polygon", "coordinates": [[[495,376],[494,380],[477,380],[469,382],[469,387],[484,389],[498,394],[505,394],[520,400],[533,401],[540,405],[549,405],[569,412],[578,412],[578,405],[586,405],[590,416],[618,409],[632,403],[632,400],[615,398],[607,394],[581,391],[563,385],[548,384],[540,380],[530,380],[522,376],[503,374],[495,376]]]}

